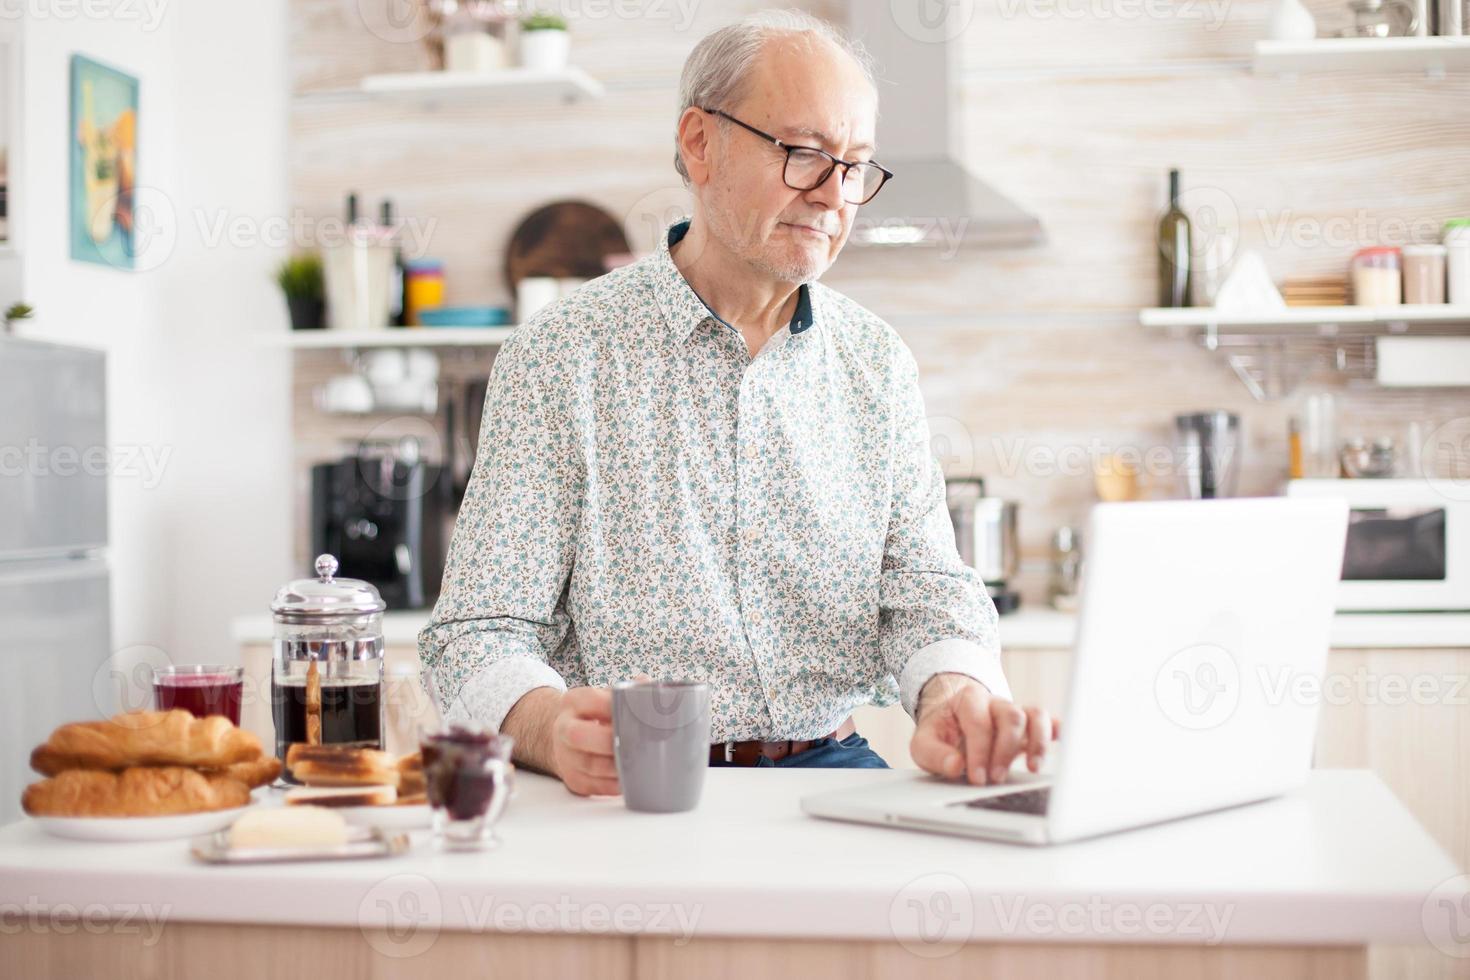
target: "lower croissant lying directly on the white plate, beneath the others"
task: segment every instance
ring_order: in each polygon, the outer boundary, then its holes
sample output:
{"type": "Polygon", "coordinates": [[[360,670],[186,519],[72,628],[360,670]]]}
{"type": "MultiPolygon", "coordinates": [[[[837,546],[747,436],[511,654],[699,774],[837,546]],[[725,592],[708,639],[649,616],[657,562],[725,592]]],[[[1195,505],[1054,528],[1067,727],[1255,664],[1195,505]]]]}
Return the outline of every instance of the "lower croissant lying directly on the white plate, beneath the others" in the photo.
{"type": "Polygon", "coordinates": [[[163,817],[228,810],[250,802],[250,788],[223,774],[176,765],[135,765],[121,773],[72,768],[25,788],[32,817],[163,817]]]}

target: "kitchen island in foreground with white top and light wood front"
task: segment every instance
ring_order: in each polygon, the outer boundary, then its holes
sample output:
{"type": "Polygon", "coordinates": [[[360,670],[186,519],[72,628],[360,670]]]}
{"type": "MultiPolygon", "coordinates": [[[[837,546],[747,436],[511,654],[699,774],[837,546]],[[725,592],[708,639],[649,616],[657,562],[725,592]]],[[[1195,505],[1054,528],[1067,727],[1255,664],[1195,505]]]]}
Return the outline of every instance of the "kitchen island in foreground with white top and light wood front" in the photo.
{"type": "Polygon", "coordinates": [[[4,973],[1267,980],[1366,976],[1370,943],[1470,955],[1466,876],[1372,773],[1039,849],[800,811],[913,777],[717,768],[695,811],[637,814],[519,773],[498,849],[378,861],[210,867],[21,821],[4,973]]]}

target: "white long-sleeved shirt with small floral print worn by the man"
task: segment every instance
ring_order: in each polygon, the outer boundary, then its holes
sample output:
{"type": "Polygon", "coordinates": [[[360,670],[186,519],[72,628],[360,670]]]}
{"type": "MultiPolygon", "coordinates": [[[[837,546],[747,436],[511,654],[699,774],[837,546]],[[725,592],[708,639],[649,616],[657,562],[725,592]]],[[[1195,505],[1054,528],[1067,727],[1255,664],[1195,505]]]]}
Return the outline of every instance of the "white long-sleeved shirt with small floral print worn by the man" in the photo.
{"type": "Polygon", "coordinates": [[[800,287],[754,357],[659,250],[520,326],[491,369],[444,586],[419,635],[451,708],[642,671],[710,685],[711,739],[913,714],[939,671],[1010,696],[960,561],[914,359],[800,287]]]}

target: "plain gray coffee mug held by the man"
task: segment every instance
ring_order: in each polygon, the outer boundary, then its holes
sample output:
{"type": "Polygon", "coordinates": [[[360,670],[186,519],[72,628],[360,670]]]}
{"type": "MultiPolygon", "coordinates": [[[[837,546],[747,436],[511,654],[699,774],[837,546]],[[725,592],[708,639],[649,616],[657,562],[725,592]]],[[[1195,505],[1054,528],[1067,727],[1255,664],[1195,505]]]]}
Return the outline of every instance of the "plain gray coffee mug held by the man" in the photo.
{"type": "Polygon", "coordinates": [[[710,767],[710,688],[698,680],[613,685],[613,757],[629,810],[694,810],[710,767]]]}

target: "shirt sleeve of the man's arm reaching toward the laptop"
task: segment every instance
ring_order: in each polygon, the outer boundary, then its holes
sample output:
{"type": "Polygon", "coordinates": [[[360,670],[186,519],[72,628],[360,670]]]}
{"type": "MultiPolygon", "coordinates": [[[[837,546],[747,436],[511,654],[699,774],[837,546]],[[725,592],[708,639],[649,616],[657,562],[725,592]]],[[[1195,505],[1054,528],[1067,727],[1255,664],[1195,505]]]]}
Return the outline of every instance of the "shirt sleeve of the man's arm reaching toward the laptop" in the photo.
{"type": "Polygon", "coordinates": [[[907,348],[895,372],[892,510],[879,579],[879,648],[898,679],[904,710],[938,673],[975,677],[1010,698],[1001,670],[995,604],[960,560],[944,473],[929,448],[919,369],[907,348]]]}

